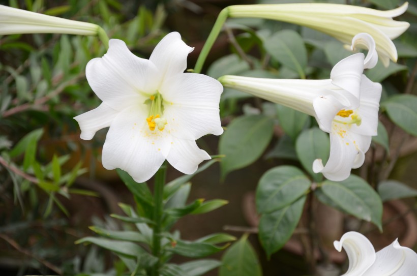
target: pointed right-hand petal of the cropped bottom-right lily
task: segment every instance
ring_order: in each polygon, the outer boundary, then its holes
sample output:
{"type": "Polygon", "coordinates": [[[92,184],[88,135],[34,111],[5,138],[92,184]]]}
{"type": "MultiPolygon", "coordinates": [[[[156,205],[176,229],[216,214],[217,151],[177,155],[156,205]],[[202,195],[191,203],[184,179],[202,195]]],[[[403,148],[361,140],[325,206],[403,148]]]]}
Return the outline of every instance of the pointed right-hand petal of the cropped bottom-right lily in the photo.
{"type": "Polygon", "coordinates": [[[400,246],[397,240],[376,253],[376,261],[364,275],[402,276],[416,273],[417,254],[400,246]]]}

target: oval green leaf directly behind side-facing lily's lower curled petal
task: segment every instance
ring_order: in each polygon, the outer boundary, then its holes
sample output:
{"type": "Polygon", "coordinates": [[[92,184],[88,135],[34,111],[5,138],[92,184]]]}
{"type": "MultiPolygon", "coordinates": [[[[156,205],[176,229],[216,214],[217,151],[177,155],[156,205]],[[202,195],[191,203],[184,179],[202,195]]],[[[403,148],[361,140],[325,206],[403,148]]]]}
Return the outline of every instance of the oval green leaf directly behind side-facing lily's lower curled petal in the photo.
{"type": "Polygon", "coordinates": [[[295,142],[295,151],[304,169],[310,173],[316,182],[321,181],[323,176],[313,172],[313,162],[320,158],[323,164],[330,155],[329,136],[318,128],[303,131],[295,142]]]}

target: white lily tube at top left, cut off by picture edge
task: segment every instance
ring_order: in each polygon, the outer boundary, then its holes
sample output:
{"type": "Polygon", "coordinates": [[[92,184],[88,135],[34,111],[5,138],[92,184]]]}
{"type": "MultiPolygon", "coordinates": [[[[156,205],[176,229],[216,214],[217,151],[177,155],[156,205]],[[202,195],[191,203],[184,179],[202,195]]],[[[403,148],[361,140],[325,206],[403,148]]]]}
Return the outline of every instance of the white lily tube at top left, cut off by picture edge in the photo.
{"type": "Polygon", "coordinates": [[[0,35],[56,33],[97,36],[101,31],[102,28],[96,24],[0,5],[0,35]]]}

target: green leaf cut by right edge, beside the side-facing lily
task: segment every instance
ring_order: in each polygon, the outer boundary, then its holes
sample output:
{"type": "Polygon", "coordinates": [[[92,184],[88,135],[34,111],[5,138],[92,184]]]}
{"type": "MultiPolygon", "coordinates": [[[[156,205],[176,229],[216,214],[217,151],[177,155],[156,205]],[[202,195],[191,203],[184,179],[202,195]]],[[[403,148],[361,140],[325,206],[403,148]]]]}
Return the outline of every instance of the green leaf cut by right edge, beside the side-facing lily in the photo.
{"type": "Polygon", "coordinates": [[[396,95],[381,103],[381,106],[396,125],[417,136],[417,96],[396,95]]]}

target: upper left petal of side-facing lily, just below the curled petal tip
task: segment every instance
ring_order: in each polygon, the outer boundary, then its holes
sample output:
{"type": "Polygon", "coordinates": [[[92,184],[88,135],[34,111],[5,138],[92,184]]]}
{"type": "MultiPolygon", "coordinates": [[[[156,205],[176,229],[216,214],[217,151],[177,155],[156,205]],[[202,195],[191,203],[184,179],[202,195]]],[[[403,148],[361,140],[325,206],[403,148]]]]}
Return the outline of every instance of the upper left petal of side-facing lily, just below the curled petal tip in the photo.
{"type": "Polygon", "coordinates": [[[352,54],[340,60],[330,73],[332,83],[348,92],[341,96],[349,101],[351,109],[359,106],[364,58],[363,53],[352,54]]]}

